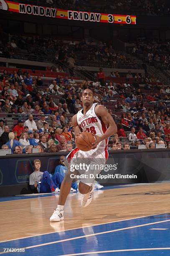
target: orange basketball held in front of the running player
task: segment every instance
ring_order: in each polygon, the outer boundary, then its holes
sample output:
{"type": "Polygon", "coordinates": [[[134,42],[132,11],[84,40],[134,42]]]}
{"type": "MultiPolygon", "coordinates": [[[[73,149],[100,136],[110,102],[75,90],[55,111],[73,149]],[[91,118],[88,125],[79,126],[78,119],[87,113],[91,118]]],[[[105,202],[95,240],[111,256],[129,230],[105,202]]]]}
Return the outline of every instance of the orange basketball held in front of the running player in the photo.
{"type": "Polygon", "coordinates": [[[77,147],[82,151],[89,151],[94,143],[95,138],[91,133],[82,132],[76,139],[77,147]]]}

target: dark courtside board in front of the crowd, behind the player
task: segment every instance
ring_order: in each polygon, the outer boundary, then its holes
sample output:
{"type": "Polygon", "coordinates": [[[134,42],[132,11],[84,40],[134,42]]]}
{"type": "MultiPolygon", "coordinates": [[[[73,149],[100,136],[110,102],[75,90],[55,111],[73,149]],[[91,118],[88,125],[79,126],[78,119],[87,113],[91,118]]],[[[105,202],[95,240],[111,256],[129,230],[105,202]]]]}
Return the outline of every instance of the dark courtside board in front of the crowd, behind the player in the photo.
{"type": "MultiPolygon", "coordinates": [[[[137,175],[137,179],[99,180],[102,184],[161,182],[170,179],[170,150],[110,151],[107,164],[117,164],[117,170],[101,174],[137,175]]],[[[33,172],[33,160],[41,160],[41,171],[53,174],[61,153],[23,154],[0,157],[0,196],[30,193],[28,181],[33,172]]],[[[66,153],[65,153],[66,155],[66,153]]]]}

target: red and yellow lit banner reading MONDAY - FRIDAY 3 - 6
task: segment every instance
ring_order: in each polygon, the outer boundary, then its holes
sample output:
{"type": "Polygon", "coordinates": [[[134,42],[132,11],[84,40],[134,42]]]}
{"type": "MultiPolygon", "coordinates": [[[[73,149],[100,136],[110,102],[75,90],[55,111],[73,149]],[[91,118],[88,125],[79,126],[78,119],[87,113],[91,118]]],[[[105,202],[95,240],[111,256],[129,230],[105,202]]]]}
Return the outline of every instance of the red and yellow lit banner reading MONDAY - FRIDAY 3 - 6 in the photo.
{"type": "Polygon", "coordinates": [[[59,18],[65,20],[80,20],[90,22],[104,22],[117,24],[136,24],[135,15],[119,15],[95,12],[81,12],[76,10],[62,10],[38,5],[15,3],[8,0],[0,0],[0,10],[8,10],[15,13],[59,18]]]}

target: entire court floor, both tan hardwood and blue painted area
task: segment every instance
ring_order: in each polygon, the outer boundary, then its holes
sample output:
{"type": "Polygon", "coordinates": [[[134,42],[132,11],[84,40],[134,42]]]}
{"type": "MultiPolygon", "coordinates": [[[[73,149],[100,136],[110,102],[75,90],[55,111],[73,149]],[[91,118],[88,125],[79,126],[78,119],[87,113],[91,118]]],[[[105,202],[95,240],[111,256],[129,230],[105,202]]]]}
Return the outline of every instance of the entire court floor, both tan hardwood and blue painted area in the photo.
{"type": "Polygon", "coordinates": [[[69,195],[58,223],[49,221],[58,195],[0,198],[0,254],[170,256],[169,183],[95,190],[86,208],[80,197],[69,195]]]}

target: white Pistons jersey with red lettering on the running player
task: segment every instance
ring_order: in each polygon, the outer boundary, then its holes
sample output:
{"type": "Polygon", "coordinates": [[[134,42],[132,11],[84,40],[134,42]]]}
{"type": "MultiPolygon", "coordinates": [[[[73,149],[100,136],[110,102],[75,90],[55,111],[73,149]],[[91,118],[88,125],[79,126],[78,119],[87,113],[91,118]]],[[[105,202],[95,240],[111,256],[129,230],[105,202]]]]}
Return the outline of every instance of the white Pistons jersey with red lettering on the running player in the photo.
{"type": "MultiPolygon", "coordinates": [[[[82,113],[82,109],[77,113],[77,123],[83,131],[94,133],[97,136],[103,135],[107,131],[105,123],[98,118],[95,113],[95,107],[98,103],[94,103],[91,108],[87,111],[86,115],[82,113]]],[[[97,148],[107,149],[108,139],[101,141],[97,148]]]]}

